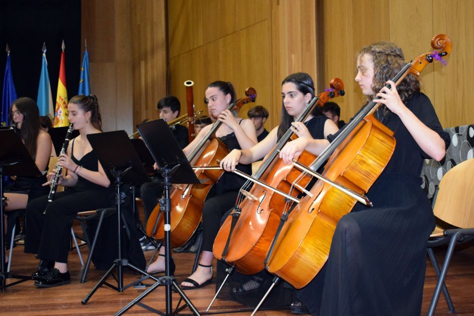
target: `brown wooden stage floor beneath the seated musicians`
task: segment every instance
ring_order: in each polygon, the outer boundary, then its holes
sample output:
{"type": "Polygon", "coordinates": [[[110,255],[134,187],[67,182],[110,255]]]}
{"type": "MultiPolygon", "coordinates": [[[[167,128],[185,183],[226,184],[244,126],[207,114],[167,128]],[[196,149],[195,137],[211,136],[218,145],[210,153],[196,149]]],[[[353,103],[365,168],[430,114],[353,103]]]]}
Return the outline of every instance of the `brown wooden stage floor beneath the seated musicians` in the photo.
{"type": "MultiPolygon", "coordinates": [[[[87,253],[88,249],[83,248],[84,261],[87,258],[87,253]]],[[[152,253],[153,251],[146,251],[145,257],[148,259],[152,253]]],[[[436,254],[438,260],[442,262],[443,253],[438,251],[436,254]]],[[[177,264],[175,276],[178,283],[180,283],[189,276],[195,255],[191,253],[174,253],[173,256],[177,264]]],[[[38,260],[33,255],[23,253],[23,246],[17,246],[14,249],[12,261],[12,272],[15,274],[28,275],[36,270],[38,264],[38,260]]],[[[92,267],[87,276],[87,281],[80,283],[81,264],[75,250],[69,253],[69,271],[71,273],[71,284],[69,285],[37,288],[34,286],[33,281],[29,280],[8,287],[5,292],[0,293],[0,313],[2,315],[110,315],[116,313],[143,291],[143,289],[130,287],[119,293],[105,286],[99,288],[86,305],[82,305],[82,298],[90,291],[105,271],[96,270],[92,267]]],[[[128,284],[135,279],[137,279],[137,275],[125,269],[124,284],[128,284]]],[[[112,278],[108,280],[110,283],[116,284],[112,278]]],[[[8,279],[7,283],[13,281],[15,279],[8,279]]],[[[474,247],[464,247],[464,249],[455,252],[448,271],[446,284],[454,302],[456,314],[474,315],[474,247]]],[[[422,314],[426,314],[428,310],[435,285],[436,277],[434,270],[428,262],[422,314]]],[[[201,289],[188,290],[185,293],[199,311],[205,311],[214,296],[215,283],[201,289]]],[[[178,299],[179,295],[173,293],[174,305],[176,305],[178,299]]],[[[142,302],[157,310],[165,311],[165,287],[155,289],[142,302]]],[[[239,305],[235,301],[217,299],[211,310],[227,314],[225,311],[243,307],[246,306],[239,305]]],[[[147,315],[151,313],[136,305],[129,309],[127,314],[147,315]]],[[[191,314],[191,312],[189,309],[185,309],[180,314],[191,314]]],[[[248,315],[250,312],[236,314],[248,315]]],[[[266,310],[258,313],[258,315],[290,314],[288,309],[266,310]]],[[[436,315],[452,315],[448,312],[446,301],[442,294],[438,302],[436,315]]]]}

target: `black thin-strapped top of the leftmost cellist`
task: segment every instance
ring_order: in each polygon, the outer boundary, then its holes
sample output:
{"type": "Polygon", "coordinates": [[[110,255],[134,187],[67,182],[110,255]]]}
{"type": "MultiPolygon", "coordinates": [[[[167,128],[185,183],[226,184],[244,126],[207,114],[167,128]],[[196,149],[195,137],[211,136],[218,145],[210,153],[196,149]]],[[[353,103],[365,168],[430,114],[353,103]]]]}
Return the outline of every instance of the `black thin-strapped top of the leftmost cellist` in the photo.
{"type": "MultiPolygon", "coordinates": [[[[239,121],[239,124],[240,122],[242,122],[242,119],[239,121]]],[[[226,145],[227,149],[229,150],[242,149],[234,132],[219,137],[219,139],[226,145]]],[[[236,169],[246,173],[247,175],[252,174],[252,165],[238,164],[236,169]]],[[[223,194],[228,191],[238,191],[240,190],[240,188],[242,188],[245,181],[246,180],[240,177],[239,175],[226,171],[216,184],[216,195],[223,194]]]]}

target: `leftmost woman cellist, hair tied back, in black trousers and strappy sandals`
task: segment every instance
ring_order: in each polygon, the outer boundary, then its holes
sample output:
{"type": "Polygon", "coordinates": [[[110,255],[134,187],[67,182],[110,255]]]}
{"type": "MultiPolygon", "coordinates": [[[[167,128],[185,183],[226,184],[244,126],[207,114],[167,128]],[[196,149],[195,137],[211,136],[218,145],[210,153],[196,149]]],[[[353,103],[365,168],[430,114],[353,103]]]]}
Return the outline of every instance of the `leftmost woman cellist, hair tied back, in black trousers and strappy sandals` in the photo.
{"type": "MultiPolygon", "coordinates": [[[[230,82],[215,81],[205,92],[204,102],[208,106],[209,115],[222,121],[216,131],[216,136],[224,142],[228,149],[250,148],[257,143],[255,127],[251,120],[235,116],[226,108],[236,101],[234,87],[230,82]]],[[[189,155],[201,139],[210,131],[212,125],[205,126],[196,138],[183,149],[189,155]]],[[[242,166],[241,171],[250,174],[251,166],[242,166]]],[[[213,186],[203,208],[203,251],[199,266],[188,279],[181,285],[183,288],[192,289],[206,285],[212,278],[212,244],[219,230],[222,215],[235,204],[239,189],[244,179],[230,173],[224,173],[213,186]]],[[[149,273],[165,270],[165,249],[160,249],[160,256],[149,267],[149,273]]]]}

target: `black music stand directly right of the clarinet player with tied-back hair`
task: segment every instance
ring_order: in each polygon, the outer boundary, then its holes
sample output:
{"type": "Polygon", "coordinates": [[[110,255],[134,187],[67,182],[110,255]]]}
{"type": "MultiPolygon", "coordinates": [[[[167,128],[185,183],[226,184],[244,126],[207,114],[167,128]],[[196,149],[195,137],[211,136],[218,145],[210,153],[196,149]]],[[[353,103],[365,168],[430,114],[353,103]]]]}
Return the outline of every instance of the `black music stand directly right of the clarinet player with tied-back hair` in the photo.
{"type": "Polygon", "coordinates": [[[133,148],[126,132],[124,130],[89,134],[87,135],[92,149],[97,155],[100,164],[104,168],[108,177],[113,180],[115,188],[115,204],[117,205],[117,259],[114,260],[112,266],[97,282],[97,284],[91,289],[91,291],[82,299],[81,303],[86,304],[89,298],[94,292],[105,284],[118,292],[122,292],[124,289],[132,286],[136,282],[134,281],[126,286],[123,286],[123,267],[128,267],[131,270],[138,272],[142,275],[146,275],[146,278],[150,277],[157,280],[157,278],[150,276],[145,271],[137,268],[128,262],[128,259],[122,258],[122,247],[121,247],[121,230],[122,230],[122,213],[121,204],[123,203],[124,194],[120,191],[120,187],[123,183],[129,184],[142,184],[148,182],[148,177],[143,170],[141,161],[133,148]],[[117,150],[120,148],[120,150],[117,150]],[[106,282],[107,277],[112,274],[114,269],[117,268],[117,286],[106,282]]]}

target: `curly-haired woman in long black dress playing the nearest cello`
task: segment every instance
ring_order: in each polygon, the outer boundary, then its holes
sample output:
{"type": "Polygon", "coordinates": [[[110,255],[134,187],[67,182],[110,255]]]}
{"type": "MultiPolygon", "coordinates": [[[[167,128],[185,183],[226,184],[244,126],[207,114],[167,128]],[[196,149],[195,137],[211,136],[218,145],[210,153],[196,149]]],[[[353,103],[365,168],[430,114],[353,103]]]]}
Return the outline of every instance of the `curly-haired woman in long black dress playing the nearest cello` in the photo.
{"type": "Polygon", "coordinates": [[[381,104],[375,117],[395,132],[396,146],[367,194],[374,207],[357,204],[341,218],[328,261],[298,292],[311,314],[420,314],[426,242],[434,228],[420,173],[424,159],[443,159],[449,136],[415,76],[397,87],[390,80],[405,64],[393,43],[359,52],[355,80],[368,101],[381,97],[374,100],[381,104]]]}

